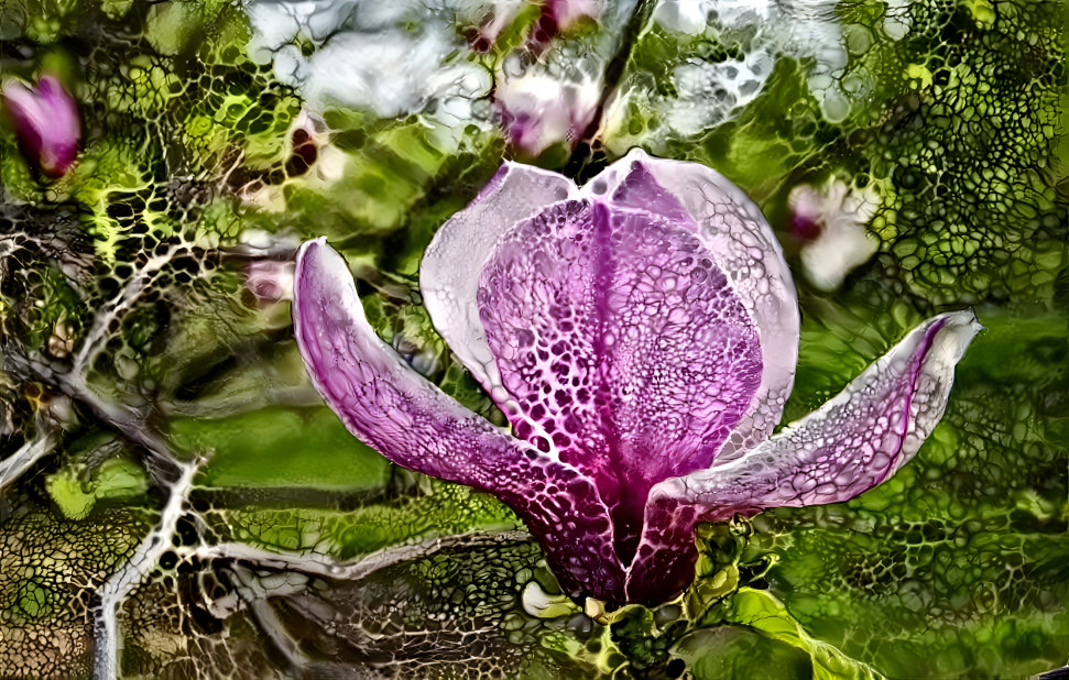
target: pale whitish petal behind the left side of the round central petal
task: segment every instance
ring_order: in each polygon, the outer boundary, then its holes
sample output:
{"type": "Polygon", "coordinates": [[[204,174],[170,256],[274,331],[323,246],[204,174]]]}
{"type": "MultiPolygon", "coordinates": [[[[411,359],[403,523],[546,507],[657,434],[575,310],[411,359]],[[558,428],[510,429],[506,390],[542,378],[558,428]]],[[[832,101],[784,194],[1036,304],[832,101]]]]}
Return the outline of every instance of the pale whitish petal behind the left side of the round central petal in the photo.
{"type": "Polygon", "coordinates": [[[467,208],[435,233],[419,267],[424,304],[438,332],[506,414],[515,415],[479,320],[479,274],[501,235],[576,186],[556,173],[505,163],[467,208]]]}

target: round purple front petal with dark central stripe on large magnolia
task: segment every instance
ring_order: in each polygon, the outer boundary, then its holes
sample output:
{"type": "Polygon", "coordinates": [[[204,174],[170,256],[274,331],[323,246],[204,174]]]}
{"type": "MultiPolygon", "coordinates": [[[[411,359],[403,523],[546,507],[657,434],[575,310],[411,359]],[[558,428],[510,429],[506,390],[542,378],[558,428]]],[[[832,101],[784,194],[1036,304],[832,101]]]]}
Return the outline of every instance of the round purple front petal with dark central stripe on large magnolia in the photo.
{"type": "Polygon", "coordinates": [[[646,492],[709,465],[752,402],[746,309],[691,230],[589,199],[506,233],[479,308],[517,436],[596,479],[626,563],[646,492]]]}

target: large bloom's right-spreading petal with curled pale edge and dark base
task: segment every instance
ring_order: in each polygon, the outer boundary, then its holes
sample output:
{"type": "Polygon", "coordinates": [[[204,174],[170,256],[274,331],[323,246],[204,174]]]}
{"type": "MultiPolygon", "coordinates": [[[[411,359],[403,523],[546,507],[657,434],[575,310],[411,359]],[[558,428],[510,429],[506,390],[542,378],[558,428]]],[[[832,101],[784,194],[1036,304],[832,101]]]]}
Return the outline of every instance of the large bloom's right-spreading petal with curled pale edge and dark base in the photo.
{"type": "Polygon", "coordinates": [[[778,506],[848,501],[920,448],[947,407],[953,370],[980,330],[970,311],[914,329],[838,396],[741,458],[667,480],[650,495],[628,596],[647,601],[686,584],[694,524],[778,506]]]}

